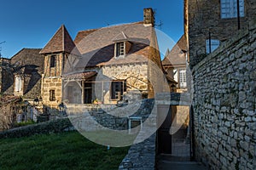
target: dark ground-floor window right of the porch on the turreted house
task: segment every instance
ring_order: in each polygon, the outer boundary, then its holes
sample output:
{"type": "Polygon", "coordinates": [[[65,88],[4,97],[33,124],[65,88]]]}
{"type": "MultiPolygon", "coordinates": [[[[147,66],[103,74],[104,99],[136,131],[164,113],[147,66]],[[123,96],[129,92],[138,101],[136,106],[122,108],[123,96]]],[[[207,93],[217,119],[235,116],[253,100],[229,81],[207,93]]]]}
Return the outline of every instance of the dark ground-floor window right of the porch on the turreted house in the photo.
{"type": "Polygon", "coordinates": [[[121,100],[126,92],[126,82],[111,82],[111,99],[121,100]]]}

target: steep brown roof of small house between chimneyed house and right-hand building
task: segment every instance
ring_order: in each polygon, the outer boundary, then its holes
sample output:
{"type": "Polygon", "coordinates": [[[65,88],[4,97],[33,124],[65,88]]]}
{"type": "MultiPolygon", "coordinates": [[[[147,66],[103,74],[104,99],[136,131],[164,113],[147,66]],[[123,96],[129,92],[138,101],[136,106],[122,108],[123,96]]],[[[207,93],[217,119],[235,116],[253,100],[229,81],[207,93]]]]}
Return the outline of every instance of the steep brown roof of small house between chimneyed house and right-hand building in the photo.
{"type": "Polygon", "coordinates": [[[166,54],[165,59],[162,61],[162,65],[185,65],[186,54],[183,51],[187,51],[187,41],[183,35],[172,48],[171,52],[166,54]]]}

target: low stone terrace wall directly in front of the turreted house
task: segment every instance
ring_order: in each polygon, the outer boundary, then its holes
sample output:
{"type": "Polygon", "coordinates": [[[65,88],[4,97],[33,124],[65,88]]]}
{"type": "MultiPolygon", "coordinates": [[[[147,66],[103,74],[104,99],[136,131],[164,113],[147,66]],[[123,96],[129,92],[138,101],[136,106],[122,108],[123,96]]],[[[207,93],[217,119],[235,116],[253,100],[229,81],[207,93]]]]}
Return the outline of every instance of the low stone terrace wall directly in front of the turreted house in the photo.
{"type": "MultiPolygon", "coordinates": [[[[115,130],[125,130],[128,129],[127,116],[142,116],[144,122],[151,113],[153,105],[154,99],[143,99],[141,102],[124,105],[122,107],[117,105],[97,104],[67,104],[66,107],[68,116],[72,117],[88,111],[90,116],[95,120],[94,125],[101,125],[103,127],[108,127],[109,129],[115,130]]],[[[90,120],[90,118],[87,120],[90,120]]]]}

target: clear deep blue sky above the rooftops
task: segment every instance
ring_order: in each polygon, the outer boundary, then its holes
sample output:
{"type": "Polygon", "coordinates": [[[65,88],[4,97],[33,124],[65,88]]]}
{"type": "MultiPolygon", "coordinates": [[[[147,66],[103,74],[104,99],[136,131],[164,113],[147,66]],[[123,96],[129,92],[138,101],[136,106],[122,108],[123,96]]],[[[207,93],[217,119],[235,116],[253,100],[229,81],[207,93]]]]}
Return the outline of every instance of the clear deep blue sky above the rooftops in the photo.
{"type": "MultiPolygon", "coordinates": [[[[44,48],[62,24],[74,39],[81,30],[141,21],[143,8],[156,9],[156,25],[160,20],[163,23],[161,29],[156,26],[161,35],[175,42],[183,35],[183,0],[1,1],[0,43],[5,41],[0,44],[2,57],[10,58],[21,48],[44,48]]],[[[172,41],[165,41],[162,53],[172,45],[172,41]]]]}

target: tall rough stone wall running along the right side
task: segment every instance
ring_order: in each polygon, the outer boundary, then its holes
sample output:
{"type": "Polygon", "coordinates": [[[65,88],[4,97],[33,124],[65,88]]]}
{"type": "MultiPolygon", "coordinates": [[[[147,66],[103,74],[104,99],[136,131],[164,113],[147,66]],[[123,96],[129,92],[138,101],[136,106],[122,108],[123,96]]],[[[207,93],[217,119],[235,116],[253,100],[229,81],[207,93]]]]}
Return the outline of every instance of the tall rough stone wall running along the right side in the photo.
{"type": "Polygon", "coordinates": [[[255,54],[256,25],[194,67],[195,156],[211,169],[255,169],[255,54]]]}

